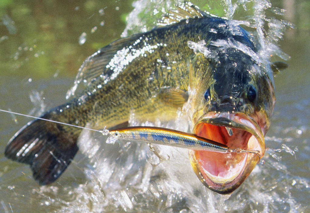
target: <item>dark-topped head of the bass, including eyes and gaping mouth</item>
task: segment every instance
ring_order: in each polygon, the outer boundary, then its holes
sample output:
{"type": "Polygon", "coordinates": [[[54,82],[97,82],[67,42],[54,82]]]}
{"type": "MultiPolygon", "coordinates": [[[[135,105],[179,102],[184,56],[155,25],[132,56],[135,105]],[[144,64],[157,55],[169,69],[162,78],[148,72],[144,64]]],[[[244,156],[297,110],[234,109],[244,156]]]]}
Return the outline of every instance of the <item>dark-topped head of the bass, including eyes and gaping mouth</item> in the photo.
{"type": "Polygon", "coordinates": [[[264,135],[275,104],[270,65],[234,48],[218,53],[190,97],[193,133],[255,153],[191,150],[194,172],[211,190],[228,194],[248,177],[265,152],[264,135]]]}

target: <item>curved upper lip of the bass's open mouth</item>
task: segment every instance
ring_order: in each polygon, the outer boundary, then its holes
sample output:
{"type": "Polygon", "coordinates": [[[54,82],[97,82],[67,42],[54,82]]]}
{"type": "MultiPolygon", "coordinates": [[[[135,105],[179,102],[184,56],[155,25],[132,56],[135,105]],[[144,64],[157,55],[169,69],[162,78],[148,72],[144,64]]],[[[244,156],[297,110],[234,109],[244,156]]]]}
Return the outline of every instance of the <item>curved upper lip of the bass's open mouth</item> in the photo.
{"type": "Polygon", "coordinates": [[[265,152],[264,134],[258,123],[244,113],[228,113],[228,112],[209,112],[198,120],[194,126],[194,130],[201,123],[207,123],[217,126],[225,126],[234,129],[242,129],[252,134],[259,145],[259,156],[263,157],[265,152]]]}

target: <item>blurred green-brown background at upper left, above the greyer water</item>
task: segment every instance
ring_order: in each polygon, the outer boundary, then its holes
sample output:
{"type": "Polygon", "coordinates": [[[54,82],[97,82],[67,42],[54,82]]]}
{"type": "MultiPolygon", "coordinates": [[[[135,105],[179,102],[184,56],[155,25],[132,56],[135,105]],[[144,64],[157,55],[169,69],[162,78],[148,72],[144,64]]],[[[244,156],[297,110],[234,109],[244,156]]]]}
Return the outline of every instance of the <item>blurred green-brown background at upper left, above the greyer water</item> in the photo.
{"type": "Polygon", "coordinates": [[[132,0],[1,0],[1,75],[76,75],[86,57],[120,37],[131,5],[132,0]],[[79,45],[83,32],[87,39],[79,45]]]}

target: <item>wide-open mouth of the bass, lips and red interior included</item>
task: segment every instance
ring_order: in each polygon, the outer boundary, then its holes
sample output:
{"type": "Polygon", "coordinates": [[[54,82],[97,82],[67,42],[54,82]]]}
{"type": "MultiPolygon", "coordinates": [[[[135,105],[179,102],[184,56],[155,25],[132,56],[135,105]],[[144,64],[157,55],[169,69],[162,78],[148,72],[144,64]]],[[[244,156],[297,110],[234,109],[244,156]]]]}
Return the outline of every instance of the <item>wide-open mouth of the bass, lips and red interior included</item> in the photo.
{"type": "Polygon", "coordinates": [[[194,134],[230,148],[255,153],[219,153],[191,150],[191,165],[201,182],[220,194],[232,193],[249,176],[265,152],[264,135],[258,123],[243,113],[209,112],[194,126],[194,134]]]}

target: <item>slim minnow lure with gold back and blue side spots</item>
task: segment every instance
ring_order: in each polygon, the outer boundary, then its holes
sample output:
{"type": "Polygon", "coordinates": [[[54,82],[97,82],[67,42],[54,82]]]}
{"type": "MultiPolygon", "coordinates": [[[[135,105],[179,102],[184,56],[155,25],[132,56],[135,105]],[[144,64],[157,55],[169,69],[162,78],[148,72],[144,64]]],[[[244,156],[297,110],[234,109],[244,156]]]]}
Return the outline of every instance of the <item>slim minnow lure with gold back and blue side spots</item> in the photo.
{"type": "Polygon", "coordinates": [[[167,145],[193,150],[205,150],[212,152],[237,152],[258,154],[257,150],[243,150],[240,148],[230,148],[216,141],[202,138],[194,134],[151,126],[135,126],[109,130],[113,138],[144,141],[160,145],[167,145]]]}

